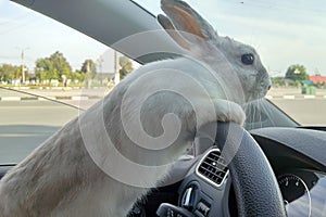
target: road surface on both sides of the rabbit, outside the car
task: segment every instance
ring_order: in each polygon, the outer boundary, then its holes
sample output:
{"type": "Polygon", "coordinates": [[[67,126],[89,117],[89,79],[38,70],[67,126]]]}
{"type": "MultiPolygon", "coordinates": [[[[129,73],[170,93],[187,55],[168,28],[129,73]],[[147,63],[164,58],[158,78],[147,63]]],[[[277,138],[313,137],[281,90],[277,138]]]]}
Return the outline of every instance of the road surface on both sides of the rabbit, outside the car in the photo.
{"type": "MultiPolygon", "coordinates": [[[[78,101],[66,101],[77,105],[78,101]]],[[[272,99],[302,125],[326,125],[326,99],[272,99]]],[[[92,101],[83,103],[93,103],[92,101]]],[[[79,111],[47,101],[0,101],[0,164],[16,163],[79,111]]]]}

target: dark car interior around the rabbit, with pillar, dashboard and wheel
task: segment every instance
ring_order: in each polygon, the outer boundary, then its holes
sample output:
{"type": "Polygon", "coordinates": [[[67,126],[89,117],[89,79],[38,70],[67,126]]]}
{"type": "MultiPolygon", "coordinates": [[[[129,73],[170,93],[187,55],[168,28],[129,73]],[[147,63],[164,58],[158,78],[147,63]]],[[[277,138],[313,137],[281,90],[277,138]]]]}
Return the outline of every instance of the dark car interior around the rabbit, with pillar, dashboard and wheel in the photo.
{"type": "MultiPolygon", "coordinates": [[[[131,0],[12,1],[140,64],[183,52],[162,31],[156,14],[131,0]],[[145,31],[151,39],[146,48],[135,43],[145,31]]],[[[284,210],[289,217],[325,216],[326,128],[300,126],[267,99],[249,106],[255,112],[247,114],[243,128],[213,123],[216,139],[197,138],[189,153],[173,165],[173,181],[166,178],[137,201],[129,217],[281,216],[284,210]],[[234,155],[223,148],[238,140],[240,146],[230,162],[234,155]]],[[[209,131],[212,126],[206,127],[209,131]]],[[[0,165],[0,178],[15,163],[0,165]]]]}

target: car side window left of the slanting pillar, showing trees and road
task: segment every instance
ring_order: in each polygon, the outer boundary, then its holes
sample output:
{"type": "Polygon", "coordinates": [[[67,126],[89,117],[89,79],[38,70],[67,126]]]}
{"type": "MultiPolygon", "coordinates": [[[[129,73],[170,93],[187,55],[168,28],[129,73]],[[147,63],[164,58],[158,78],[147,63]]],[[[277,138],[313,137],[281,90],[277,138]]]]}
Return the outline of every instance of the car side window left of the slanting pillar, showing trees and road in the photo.
{"type": "Polygon", "coordinates": [[[138,64],[27,8],[0,5],[0,164],[9,164],[101,100],[138,64]]]}

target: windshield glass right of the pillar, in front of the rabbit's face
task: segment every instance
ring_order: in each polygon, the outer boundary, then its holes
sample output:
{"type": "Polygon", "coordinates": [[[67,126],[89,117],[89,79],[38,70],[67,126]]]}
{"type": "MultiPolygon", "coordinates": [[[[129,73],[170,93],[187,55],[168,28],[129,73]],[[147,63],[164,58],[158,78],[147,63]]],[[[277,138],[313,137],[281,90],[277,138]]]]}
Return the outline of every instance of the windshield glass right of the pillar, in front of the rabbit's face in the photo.
{"type": "MultiPolygon", "coordinates": [[[[160,1],[135,0],[154,15],[160,1]]],[[[325,125],[326,2],[187,0],[221,36],[258,50],[272,77],[266,98],[301,125],[325,125]]]]}

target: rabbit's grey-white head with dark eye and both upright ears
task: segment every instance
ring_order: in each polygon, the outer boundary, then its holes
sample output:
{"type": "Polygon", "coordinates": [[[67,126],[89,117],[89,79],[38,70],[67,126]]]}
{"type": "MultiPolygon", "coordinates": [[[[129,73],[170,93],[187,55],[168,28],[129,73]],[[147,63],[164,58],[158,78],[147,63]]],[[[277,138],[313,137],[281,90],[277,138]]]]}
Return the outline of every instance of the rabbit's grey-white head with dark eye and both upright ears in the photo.
{"type": "Polygon", "coordinates": [[[162,0],[158,21],[172,39],[196,60],[220,74],[233,101],[243,104],[263,98],[271,88],[267,71],[256,51],[228,37],[221,37],[214,28],[180,0],[162,0]],[[237,95],[242,95],[237,99],[237,95]],[[236,99],[236,100],[234,100],[236,99]]]}

